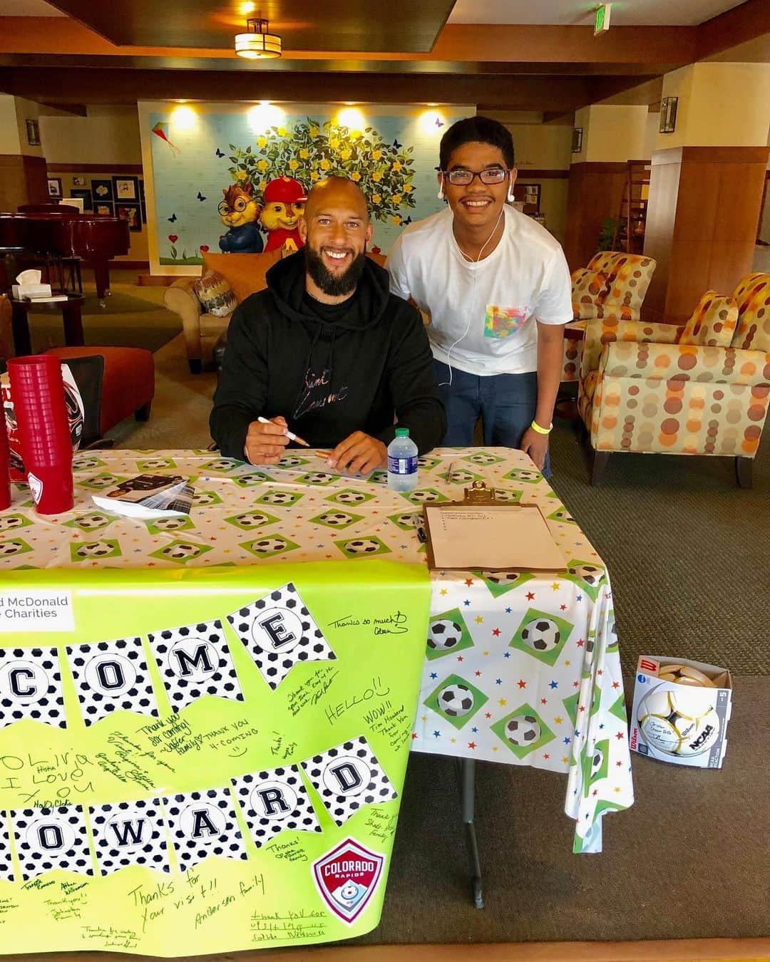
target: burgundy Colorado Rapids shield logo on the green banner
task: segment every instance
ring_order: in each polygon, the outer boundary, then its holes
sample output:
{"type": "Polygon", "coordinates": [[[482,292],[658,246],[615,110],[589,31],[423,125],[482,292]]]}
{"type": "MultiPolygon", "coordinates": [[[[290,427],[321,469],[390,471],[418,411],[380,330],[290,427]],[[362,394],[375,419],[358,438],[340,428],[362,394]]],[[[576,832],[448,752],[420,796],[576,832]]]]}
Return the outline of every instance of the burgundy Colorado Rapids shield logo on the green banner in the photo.
{"type": "Polygon", "coordinates": [[[376,892],[384,865],[384,855],[346,839],[313,863],[313,878],[332,912],[351,925],[376,892]]]}

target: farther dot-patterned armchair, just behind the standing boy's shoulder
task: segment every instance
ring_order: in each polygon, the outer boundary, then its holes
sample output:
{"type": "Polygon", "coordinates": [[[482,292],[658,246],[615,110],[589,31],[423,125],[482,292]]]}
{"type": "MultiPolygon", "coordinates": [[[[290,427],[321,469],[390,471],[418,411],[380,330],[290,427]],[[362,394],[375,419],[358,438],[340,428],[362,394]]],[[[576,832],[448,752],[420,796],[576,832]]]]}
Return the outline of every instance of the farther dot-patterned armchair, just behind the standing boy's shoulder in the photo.
{"type": "Polygon", "coordinates": [[[610,316],[620,320],[639,319],[656,266],[652,257],[605,250],[592,257],[587,267],[574,271],[574,319],[567,325],[564,339],[562,381],[578,380],[581,342],[576,332],[584,330],[588,320],[610,316]]]}

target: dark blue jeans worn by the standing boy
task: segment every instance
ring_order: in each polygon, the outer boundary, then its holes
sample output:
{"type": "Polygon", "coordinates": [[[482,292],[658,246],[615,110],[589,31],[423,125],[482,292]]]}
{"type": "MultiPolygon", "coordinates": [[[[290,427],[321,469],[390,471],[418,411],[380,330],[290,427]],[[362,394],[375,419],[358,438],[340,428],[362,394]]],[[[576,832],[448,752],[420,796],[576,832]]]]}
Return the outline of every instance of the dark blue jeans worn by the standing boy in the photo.
{"type": "MultiPolygon", "coordinates": [[[[475,422],[481,417],[484,444],[490,447],[521,447],[522,437],[537,409],[537,372],[490,374],[479,377],[433,360],[439,396],[447,409],[449,427],[443,447],[471,447],[475,422]]],[[[551,458],[546,455],[543,476],[551,477],[551,458]]]]}

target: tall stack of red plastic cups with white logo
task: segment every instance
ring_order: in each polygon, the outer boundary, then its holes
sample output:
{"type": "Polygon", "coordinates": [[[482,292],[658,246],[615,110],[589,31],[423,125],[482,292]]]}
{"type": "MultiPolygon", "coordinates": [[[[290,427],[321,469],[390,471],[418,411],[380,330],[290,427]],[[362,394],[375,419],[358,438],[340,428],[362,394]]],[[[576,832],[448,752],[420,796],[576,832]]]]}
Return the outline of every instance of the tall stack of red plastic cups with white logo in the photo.
{"type": "Polygon", "coordinates": [[[21,457],[39,515],[73,505],[72,439],[64,406],[61,361],[31,354],[8,362],[21,457]]]}

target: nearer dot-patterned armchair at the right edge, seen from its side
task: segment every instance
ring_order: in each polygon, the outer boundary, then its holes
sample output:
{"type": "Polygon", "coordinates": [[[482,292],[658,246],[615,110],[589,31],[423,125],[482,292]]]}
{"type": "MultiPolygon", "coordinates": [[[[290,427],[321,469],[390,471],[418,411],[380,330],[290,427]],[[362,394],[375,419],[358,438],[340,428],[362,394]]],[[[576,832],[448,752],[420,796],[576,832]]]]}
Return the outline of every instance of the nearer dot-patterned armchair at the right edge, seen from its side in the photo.
{"type": "Polygon", "coordinates": [[[578,409],[595,452],[733,457],[751,487],[770,394],[770,274],[707,291],[684,327],[617,317],[586,327],[578,409]]]}

